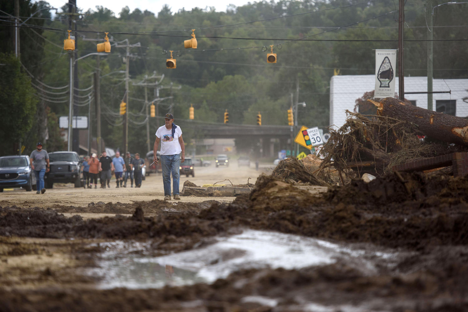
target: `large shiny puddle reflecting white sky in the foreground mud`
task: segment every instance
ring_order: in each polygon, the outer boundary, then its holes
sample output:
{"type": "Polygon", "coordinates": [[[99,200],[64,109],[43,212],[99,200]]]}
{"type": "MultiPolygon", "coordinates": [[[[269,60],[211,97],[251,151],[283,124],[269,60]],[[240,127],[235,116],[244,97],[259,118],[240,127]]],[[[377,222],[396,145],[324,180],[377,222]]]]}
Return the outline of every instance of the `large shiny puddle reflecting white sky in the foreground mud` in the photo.
{"type": "MultiPolygon", "coordinates": [[[[97,247],[97,246],[92,246],[97,247]]],[[[278,232],[244,230],[240,234],[213,238],[213,243],[184,252],[152,257],[150,242],[100,243],[97,267],[85,274],[98,277],[98,289],[161,288],[213,283],[245,269],[301,269],[343,260],[363,275],[377,272],[376,263],[394,265],[397,253],[372,253],[322,239],[278,232]],[[372,258],[372,259],[371,259],[372,258]],[[354,264],[354,265],[353,265],[354,264]]]]}

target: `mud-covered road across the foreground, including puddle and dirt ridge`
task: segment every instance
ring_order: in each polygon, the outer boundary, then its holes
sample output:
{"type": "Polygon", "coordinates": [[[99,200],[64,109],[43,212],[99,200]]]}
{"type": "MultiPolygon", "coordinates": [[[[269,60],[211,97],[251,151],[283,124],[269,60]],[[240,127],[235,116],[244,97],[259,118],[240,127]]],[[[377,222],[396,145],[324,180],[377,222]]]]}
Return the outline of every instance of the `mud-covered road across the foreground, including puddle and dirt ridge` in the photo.
{"type": "Polygon", "coordinates": [[[468,178],[317,195],[242,169],[181,178],[256,181],[235,198],[165,202],[161,176],[5,191],[0,311],[468,311],[468,178]]]}

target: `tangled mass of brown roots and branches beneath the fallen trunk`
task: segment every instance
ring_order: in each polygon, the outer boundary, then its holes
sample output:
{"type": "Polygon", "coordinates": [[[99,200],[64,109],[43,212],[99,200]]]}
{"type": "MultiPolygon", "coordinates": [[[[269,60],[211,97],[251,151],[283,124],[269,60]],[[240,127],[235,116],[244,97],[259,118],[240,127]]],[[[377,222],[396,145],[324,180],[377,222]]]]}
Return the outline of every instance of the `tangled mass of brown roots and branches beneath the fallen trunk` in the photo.
{"type": "Polygon", "coordinates": [[[346,184],[346,178],[363,173],[383,176],[392,172],[395,165],[467,151],[463,145],[427,137],[420,139],[417,123],[389,116],[347,113],[346,123],[336,131],[330,130],[331,137],[321,151],[324,159],[320,165],[320,171],[336,168],[342,184],[346,184]]]}

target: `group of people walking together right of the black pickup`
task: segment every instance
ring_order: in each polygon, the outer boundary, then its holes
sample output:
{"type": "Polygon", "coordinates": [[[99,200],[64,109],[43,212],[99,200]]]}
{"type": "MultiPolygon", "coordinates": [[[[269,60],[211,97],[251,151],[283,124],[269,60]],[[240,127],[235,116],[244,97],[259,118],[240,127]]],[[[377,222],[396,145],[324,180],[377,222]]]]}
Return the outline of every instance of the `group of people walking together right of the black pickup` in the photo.
{"type": "Polygon", "coordinates": [[[106,185],[110,188],[112,172],[116,177],[116,188],[126,188],[129,177],[130,187],[133,187],[133,180],[135,180],[135,187],[141,187],[142,167],[145,165],[145,161],[140,158],[139,153],[135,154],[135,158],[131,156],[130,152],[127,152],[125,156],[125,158],[121,157],[118,151],[113,159],[107,155],[106,151],[102,151],[99,159],[95,153],[91,157],[86,156],[81,165],[84,188],[91,189],[94,182],[94,188],[97,189],[98,177],[101,189],[105,189],[106,185]]]}

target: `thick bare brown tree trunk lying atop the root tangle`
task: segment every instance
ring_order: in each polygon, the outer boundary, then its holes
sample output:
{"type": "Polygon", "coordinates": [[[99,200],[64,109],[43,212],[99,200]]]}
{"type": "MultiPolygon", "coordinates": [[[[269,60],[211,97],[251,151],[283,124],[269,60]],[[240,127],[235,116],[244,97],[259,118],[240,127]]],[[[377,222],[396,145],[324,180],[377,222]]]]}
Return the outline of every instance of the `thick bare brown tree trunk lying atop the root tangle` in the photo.
{"type": "Polygon", "coordinates": [[[380,116],[389,116],[417,124],[421,135],[444,142],[468,145],[468,120],[461,117],[423,109],[393,97],[380,103],[372,100],[380,116]]]}

